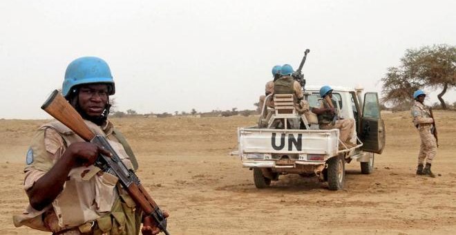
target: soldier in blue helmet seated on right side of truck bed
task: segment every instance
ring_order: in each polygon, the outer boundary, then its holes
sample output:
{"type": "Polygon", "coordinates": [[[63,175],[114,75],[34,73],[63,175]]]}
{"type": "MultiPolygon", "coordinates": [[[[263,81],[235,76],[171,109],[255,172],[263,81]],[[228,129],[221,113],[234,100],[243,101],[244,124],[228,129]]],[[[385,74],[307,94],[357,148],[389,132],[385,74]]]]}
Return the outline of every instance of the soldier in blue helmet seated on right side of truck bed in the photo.
{"type": "MultiPolygon", "coordinates": [[[[340,119],[337,115],[335,107],[337,104],[332,100],[332,88],[330,86],[322,86],[320,88],[321,100],[320,108],[313,108],[312,112],[316,113],[319,119],[320,129],[339,129],[339,138],[348,148],[355,147],[357,144],[351,142],[354,133],[354,119],[340,119]],[[330,100],[330,101],[328,101],[330,100]],[[331,104],[329,103],[331,102],[331,104]]],[[[343,146],[339,146],[343,149],[343,146]]]]}

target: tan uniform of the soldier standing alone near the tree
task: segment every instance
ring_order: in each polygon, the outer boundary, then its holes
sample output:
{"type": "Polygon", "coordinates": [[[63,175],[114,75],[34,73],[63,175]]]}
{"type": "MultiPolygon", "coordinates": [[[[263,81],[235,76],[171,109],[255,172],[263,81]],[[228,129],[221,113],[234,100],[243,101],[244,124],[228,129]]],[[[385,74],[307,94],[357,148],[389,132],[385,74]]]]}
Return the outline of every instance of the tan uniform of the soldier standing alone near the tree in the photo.
{"type": "Polygon", "coordinates": [[[431,164],[435,155],[437,154],[437,142],[433,135],[433,118],[430,118],[430,113],[424,104],[415,100],[411,114],[413,118],[413,125],[417,127],[419,137],[421,138],[421,145],[419,147],[418,164],[423,165],[426,163],[431,164]]]}

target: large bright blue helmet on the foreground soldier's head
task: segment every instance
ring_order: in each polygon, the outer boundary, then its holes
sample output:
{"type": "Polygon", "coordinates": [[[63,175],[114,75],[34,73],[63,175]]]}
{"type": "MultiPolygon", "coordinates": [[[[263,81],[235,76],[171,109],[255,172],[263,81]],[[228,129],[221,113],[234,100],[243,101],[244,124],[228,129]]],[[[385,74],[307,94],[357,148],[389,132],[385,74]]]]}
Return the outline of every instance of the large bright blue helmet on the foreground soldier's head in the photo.
{"type": "Polygon", "coordinates": [[[109,85],[108,94],[115,93],[113,75],[108,64],[98,57],[81,57],[66,67],[61,93],[66,97],[74,86],[91,83],[106,83],[109,85]]]}

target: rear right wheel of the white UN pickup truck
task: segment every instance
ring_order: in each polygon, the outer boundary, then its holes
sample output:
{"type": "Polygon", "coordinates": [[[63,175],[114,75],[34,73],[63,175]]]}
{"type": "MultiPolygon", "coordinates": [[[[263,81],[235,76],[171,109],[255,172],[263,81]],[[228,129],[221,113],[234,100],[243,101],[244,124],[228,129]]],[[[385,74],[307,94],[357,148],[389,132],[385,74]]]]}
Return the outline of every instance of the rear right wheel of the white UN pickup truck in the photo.
{"type": "Polygon", "coordinates": [[[327,185],[330,190],[342,189],[344,178],[345,160],[341,156],[327,160],[327,185]]]}

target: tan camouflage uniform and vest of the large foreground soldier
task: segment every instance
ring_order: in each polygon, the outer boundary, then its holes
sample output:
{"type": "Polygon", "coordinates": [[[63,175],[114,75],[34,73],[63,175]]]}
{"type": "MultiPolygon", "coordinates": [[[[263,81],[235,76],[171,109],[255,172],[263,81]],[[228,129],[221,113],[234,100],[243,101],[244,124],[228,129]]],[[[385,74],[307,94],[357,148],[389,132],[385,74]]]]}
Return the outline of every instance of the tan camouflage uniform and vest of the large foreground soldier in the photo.
{"type": "MultiPolygon", "coordinates": [[[[85,122],[94,133],[106,137],[126,167],[133,169],[111,122],[104,126],[85,122]]],[[[44,176],[71,143],[83,141],[60,122],[41,126],[27,153],[24,189],[44,176]]],[[[26,225],[55,234],[139,234],[141,219],[141,209],[117,178],[93,165],[71,169],[64,189],[51,205],[41,211],[28,205],[23,214],[13,216],[16,227],[26,225]]]]}

